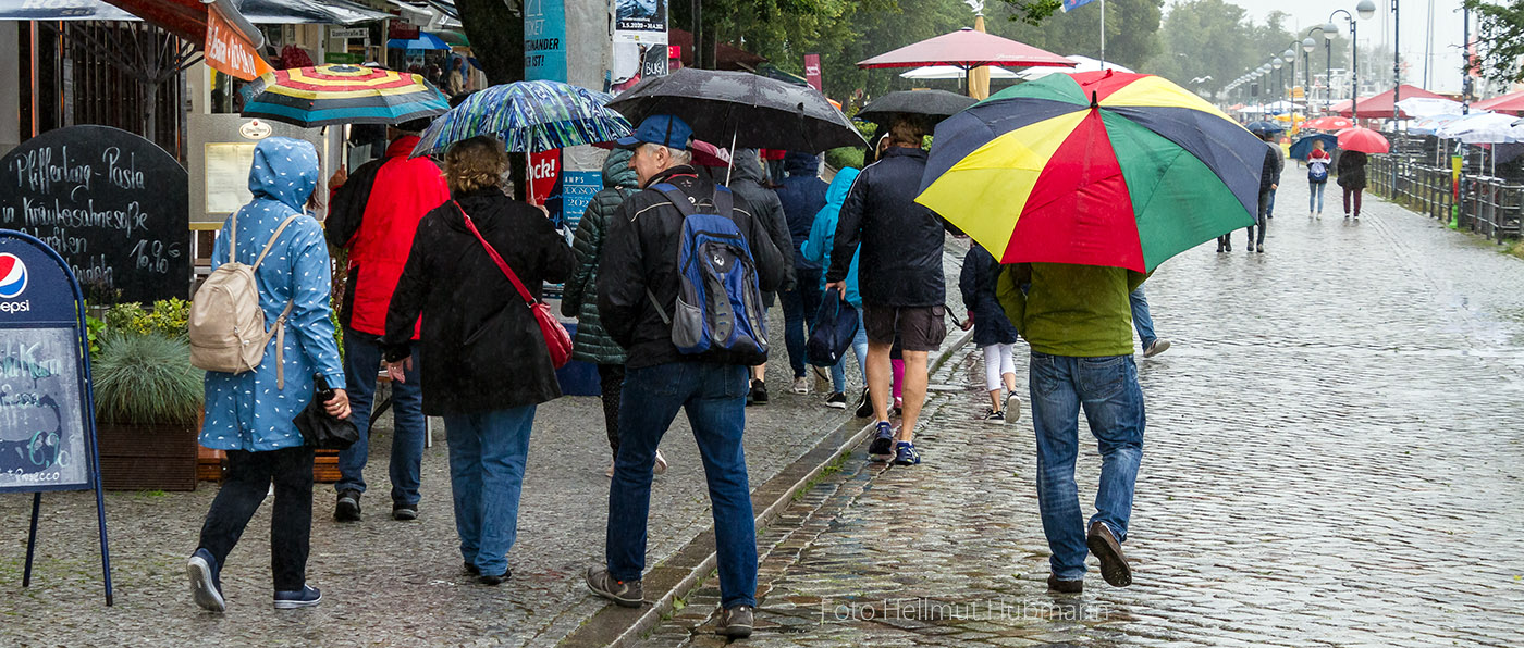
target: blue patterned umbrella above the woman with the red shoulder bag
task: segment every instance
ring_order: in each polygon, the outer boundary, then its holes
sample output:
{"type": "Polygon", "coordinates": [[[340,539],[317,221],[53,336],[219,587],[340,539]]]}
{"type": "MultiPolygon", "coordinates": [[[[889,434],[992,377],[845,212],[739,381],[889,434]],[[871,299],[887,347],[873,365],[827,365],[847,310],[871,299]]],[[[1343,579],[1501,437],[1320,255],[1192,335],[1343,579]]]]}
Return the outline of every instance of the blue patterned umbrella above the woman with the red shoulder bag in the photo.
{"type": "Polygon", "coordinates": [[[559,81],[494,85],[434,119],[413,155],[442,152],[475,135],[497,135],[514,152],[617,140],[629,134],[629,122],[605,108],[608,102],[608,94],[559,81]]]}

